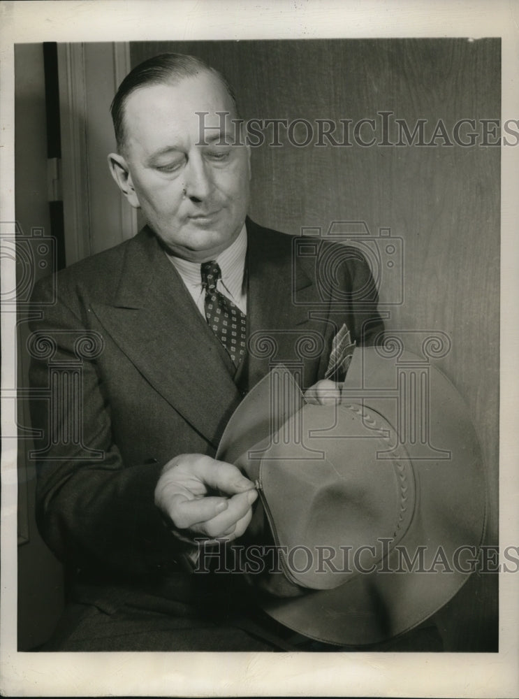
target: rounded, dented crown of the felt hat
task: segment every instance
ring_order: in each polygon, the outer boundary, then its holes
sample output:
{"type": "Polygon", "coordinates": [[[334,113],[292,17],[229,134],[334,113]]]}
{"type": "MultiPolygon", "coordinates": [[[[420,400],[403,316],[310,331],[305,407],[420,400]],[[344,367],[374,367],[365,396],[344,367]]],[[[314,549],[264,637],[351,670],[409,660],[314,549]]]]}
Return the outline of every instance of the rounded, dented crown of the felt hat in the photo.
{"type": "Polygon", "coordinates": [[[259,481],[290,582],[332,589],[359,574],[352,555],[369,568],[402,539],[414,510],[411,465],[373,459],[394,443],[393,428],[360,404],[305,405],[273,435],[259,481]]]}

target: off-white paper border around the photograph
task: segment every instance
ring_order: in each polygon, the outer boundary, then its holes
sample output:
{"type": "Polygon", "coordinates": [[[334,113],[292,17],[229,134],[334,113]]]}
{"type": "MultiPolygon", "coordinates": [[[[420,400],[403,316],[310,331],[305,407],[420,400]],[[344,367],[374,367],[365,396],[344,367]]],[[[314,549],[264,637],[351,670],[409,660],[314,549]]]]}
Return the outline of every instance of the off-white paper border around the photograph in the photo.
{"type": "MultiPolygon", "coordinates": [[[[0,3],[0,219],[14,210],[14,45],[258,38],[501,37],[502,121],[519,118],[519,3],[511,1],[94,0],[0,3]]],[[[502,148],[501,549],[519,544],[519,147],[502,148]],[[505,318],[505,313],[506,318],[505,318]],[[510,317],[511,315],[511,317],[510,317]]],[[[14,265],[2,270],[14,288],[14,265]]],[[[1,318],[2,380],[15,380],[15,314],[1,318]]],[[[5,385],[5,384],[3,384],[5,385]]],[[[14,384],[13,384],[14,385],[14,384]]],[[[13,434],[15,401],[2,401],[13,434]]],[[[496,654],[19,653],[15,440],[2,443],[0,692],[4,696],[519,696],[519,574],[499,584],[496,654]]]]}

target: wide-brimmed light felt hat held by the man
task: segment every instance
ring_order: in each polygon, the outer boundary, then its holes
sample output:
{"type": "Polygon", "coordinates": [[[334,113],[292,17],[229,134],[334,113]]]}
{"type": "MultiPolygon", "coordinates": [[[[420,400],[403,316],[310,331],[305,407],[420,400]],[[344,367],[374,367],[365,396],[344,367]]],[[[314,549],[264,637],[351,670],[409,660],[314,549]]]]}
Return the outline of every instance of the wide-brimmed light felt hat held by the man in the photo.
{"type": "Polygon", "coordinates": [[[249,541],[275,560],[265,555],[249,582],[298,633],[387,640],[437,612],[474,570],[481,447],[453,384],[411,352],[357,347],[340,401],[326,405],[307,403],[277,366],[231,417],[217,458],[256,482],[249,541]]]}

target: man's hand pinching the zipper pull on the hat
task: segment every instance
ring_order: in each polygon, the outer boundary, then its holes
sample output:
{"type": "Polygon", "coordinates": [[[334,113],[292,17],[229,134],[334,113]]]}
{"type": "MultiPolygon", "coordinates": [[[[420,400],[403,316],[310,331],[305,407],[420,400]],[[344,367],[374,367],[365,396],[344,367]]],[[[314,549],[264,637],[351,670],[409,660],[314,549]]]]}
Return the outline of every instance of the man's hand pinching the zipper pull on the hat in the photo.
{"type": "Polygon", "coordinates": [[[155,505],[188,538],[233,541],[249,526],[258,493],[236,466],[203,454],[181,454],[164,466],[155,505]]]}

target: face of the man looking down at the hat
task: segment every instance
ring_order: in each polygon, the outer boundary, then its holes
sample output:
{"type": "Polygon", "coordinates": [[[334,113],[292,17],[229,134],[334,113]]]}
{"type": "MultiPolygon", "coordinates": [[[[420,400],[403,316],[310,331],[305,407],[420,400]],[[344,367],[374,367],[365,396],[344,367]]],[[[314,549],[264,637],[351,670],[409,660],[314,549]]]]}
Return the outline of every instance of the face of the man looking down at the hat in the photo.
{"type": "Polygon", "coordinates": [[[242,229],[249,205],[249,150],[235,145],[240,142],[231,122],[235,117],[231,97],[207,72],[176,85],[142,87],[126,101],[124,157],[117,156],[125,166],[116,179],[178,257],[214,259],[242,229]],[[205,132],[196,112],[208,113],[205,132]],[[220,126],[217,112],[228,112],[223,134],[228,145],[218,145],[218,130],[208,128],[220,126]],[[206,145],[200,145],[203,141],[206,145]],[[119,179],[125,176],[127,191],[119,179]]]}

